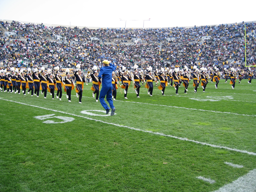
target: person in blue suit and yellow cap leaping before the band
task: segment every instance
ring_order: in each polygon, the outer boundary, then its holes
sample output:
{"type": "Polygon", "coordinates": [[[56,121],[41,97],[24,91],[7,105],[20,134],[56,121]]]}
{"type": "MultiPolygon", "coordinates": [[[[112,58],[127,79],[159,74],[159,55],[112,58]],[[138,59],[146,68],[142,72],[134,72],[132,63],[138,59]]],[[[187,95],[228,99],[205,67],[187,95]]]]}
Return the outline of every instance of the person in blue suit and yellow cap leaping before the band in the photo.
{"type": "Polygon", "coordinates": [[[112,100],[112,72],[116,70],[116,66],[112,65],[110,61],[103,60],[103,67],[100,69],[99,78],[102,77],[102,88],[100,90],[100,103],[104,109],[106,109],[106,114],[109,113],[110,108],[112,109],[110,116],[115,114],[116,108],[113,105],[112,100]],[[107,95],[107,96],[106,96],[107,95]],[[107,98],[110,108],[105,102],[104,98],[107,98]]]}

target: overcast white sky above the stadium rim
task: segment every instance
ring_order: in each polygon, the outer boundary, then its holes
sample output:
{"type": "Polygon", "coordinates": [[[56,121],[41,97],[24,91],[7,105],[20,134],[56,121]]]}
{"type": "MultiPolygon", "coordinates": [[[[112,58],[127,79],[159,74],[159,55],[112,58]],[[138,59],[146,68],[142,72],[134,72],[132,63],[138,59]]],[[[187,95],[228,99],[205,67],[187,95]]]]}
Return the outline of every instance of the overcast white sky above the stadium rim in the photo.
{"type": "Polygon", "coordinates": [[[187,27],[255,21],[256,1],[0,0],[0,20],[86,27],[187,27]],[[210,2],[210,3],[208,3],[210,2]]]}

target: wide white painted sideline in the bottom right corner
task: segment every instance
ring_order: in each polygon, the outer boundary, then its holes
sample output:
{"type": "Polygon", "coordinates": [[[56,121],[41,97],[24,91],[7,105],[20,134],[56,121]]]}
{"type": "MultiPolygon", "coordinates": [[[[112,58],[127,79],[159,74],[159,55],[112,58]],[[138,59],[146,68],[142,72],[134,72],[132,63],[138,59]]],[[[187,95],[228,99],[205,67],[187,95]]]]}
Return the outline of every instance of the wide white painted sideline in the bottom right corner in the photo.
{"type": "Polygon", "coordinates": [[[255,192],[256,191],[256,169],[237,180],[224,185],[214,192],[255,192]]]}

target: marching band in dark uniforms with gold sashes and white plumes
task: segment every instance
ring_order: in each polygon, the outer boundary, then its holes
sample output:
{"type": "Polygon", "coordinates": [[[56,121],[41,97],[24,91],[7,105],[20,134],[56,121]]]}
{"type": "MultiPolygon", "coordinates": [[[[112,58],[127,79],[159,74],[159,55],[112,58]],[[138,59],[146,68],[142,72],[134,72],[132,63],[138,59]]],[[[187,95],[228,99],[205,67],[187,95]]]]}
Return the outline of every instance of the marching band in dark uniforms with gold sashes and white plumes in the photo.
{"type": "MultiPolygon", "coordinates": [[[[42,67],[41,69],[30,69],[28,68],[28,72],[25,73],[22,69],[19,71],[17,68],[11,68],[10,72],[7,72],[7,69],[0,70],[0,85],[1,92],[14,92],[20,94],[20,90],[22,90],[23,95],[26,95],[26,91],[28,89],[28,94],[31,92],[31,96],[35,95],[39,97],[39,92],[44,93],[44,98],[46,99],[47,91],[52,95],[52,99],[54,99],[54,90],[57,91],[57,99],[61,100],[62,97],[62,87],[64,87],[64,91],[67,92],[67,99],[71,102],[71,91],[76,87],[76,97],[79,98],[79,103],[82,103],[83,89],[84,83],[88,84],[90,79],[92,79],[92,88],[93,91],[92,96],[95,97],[96,101],[98,101],[99,93],[100,93],[100,84],[101,81],[98,77],[98,71],[100,70],[97,66],[92,68],[92,71],[88,71],[86,76],[82,75],[82,70],[80,66],[76,66],[77,69],[74,70],[74,76],[70,76],[69,69],[66,70],[65,76],[60,75],[59,68],[54,70],[48,69],[47,71],[42,67]],[[76,85],[75,85],[76,82],[76,85]]],[[[133,71],[126,70],[125,67],[122,67],[122,70],[116,70],[112,73],[112,99],[116,100],[117,89],[120,90],[121,94],[123,94],[122,89],[124,89],[124,98],[127,98],[128,88],[132,83],[132,89],[136,93],[136,97],[140,98],[140,83],[144,86],[144,89],[148,89],[149,96],[153,96],[153,82],[160,82],[160,85],[157,87],[161,90],[162,95],[164,94],[165,88],[170,84],[170,86],[174,87],[176,90],[176,94],[178,95],[178,90],[180,85],[182,84],[185,87],[184,93],[187,94],[188,85],[190,80],[193,80],[194,92],[197,92],[197,88],[201,81],[201,86],[203,88],[203,92],[205,92],[206,85],[208,84],[208,80],[211,79],[211,82],[215,82],[215,88],[218,89],[218,83],[220,80],[220,71],[215,66],[212,68],[198,68],[196,65],[188,69],[187,66],[184,66],[183,69],[180,68],[161,68],[161,70],[152,70],[151,66],[148,66],[147,70],[138,70],[139,66],[134,65],[133,71]],[[152,74],[153,72],[153,74],[152,74]],[[209,75],[210,72],[210,75],[209,75]],[[171,81],[171,83],[170,83],[171,81]],[[121,84],[120,84],[121,82],[121,84]]],[[[251,68],[248,73],[248,83],[251,84],[252,81],[252,71],[251,68]]],[[[224,68],[223,77],[225,78],[225,83],[227,83],[228,78],[230,78],[231,88],[235,88],[236,79],[239,79],[239,83],[243,79],[244,71],[241,69],[224,68]],[[237,72],[237,74],[236,74],[237,72]]]]}

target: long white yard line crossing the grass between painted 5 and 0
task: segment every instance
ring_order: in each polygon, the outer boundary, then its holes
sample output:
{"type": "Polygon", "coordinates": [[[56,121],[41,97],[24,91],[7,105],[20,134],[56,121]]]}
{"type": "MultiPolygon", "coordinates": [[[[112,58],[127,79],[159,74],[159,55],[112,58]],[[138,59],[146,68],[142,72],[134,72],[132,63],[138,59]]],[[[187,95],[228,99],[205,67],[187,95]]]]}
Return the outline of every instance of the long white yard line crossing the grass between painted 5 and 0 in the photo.
{"type": "Polygon", "coordinates": [[[190,141],[190,142],[193,142],[193,143],[196,143],[196,144],[207,145],[207,146],[210,146],[210,147],[213,147],[213,148],[227,149],[227,150],[230,150],[230,151],[236,151],[236,152],[239,152],[239,153],[246,153],[246,154],[249,154],[249,155],[256,156],[256,153],[246,151],[246,150],[240,150],[240,149],[236,149],[236,148],[229,148],[229,147],[219,146],[219,145],[212,145],[212,144],[209,144],[209,143],[199,142],[199,141],[196,141],[196,140],[190,140],[190,139],[187,139],[187,138],[176,137],[176,136],[172,136],[172,135],[165,135],[164,133],[159,133],[159,132],[145,131],[145,130],[137,129],[137,128],[134,128],[134,127],[124,126],[124,125],[119,125],[119,124],[114,124],[114,123],[108,123],[108,122],[101,121],[101,120],[98,120],[98,119],[92,119],[92,118],[89,118],[89,117],[84,117],[84,116],[71,114],[71,113],[67,113],[67,112],[63,112],[63,111],[57,111],[57,110],[54,110],[54,109],[43,108],[43,107],[39,107],[39,106],[35,106],[35,105],[28,105],[26,103],[20,103],[20,102],[17,102],[17,101],[6,100],[6,99],[2,99],[2,98],[0,98],[0,100],[10,101],[10,102],[19,103],[19,104],[22,104],[22,105],[27,105],[27,106],[41,108],[41,109],[50,110],[50,111],[54,111],[54,112],[64,113],[64,114],[68,114],[68,115],[72,115],[72,116],[82,117],[82,118],[89,119],[89,120],[92,120],[92,121],[101,122],[101,123],[105,123],[105,124],[111,124],[111,125],[115,125],[115,126],[118,126],[118,127],[125,127],[125,128],[136,130],[136,131],[142,131],[142,132],[152,133],[152,134],[156,134],[156,135],[171,137],[171,138],[174,138],[174,139],[190,141]]]}

